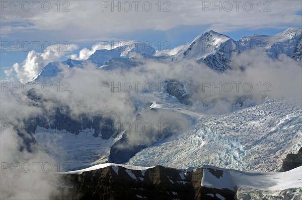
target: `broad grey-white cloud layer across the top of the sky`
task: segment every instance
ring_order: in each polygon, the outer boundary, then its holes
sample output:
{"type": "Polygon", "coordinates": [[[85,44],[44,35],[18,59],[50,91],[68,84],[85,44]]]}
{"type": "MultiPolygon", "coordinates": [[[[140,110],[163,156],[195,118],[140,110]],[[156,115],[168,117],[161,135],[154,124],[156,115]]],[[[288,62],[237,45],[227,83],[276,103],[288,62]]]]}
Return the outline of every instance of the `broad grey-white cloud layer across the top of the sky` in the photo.
{"type": "Polygon", "coordinates": [[[126,9],[123,1],[114,3],[119,4],[118,7],[110,1],[76,1],[70,2],[69,6],[61,5],[60,9],[68,6],[68,12],[58,12],[54,3],[47,12],[40,7],[37,11],[11,12],[8,7],[2,12],[2,30],[6,35],[37,30],[59,33],[68,41],[91,41],[92,38],[103,41],[108,39],[108,35],[121,37],[139,30],[167,31],[179,26],[209,26],[218,32],[233,32],[243,28],[283,29],[301,24],[300,15],[296,14],[301,10],[299,1],[267,1],[261,5],[253,1],[225,2],[168,1],[161,2],[160,7],[151,2],[149,11],[146,11],[148,4],[140,2],[136,6],[131,1],[130,10],[126,9]],[[20,28],[14,23],[29,23],[31,26],[20,28]]]}

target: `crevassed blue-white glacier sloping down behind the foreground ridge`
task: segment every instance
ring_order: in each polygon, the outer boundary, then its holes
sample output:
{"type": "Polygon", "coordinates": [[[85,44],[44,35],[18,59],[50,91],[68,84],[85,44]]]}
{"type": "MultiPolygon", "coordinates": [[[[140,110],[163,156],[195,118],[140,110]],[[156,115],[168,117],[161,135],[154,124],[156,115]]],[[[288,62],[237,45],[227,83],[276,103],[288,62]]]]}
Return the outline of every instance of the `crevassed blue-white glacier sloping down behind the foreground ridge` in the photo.
{"type": "Polygon", "coordinates": [[[267,99],[233,113],[203,116],[189,131],[143,149],[127,164],[278,171],[286,154],[302,147],[301,111],[286,101],[267,99]]]}

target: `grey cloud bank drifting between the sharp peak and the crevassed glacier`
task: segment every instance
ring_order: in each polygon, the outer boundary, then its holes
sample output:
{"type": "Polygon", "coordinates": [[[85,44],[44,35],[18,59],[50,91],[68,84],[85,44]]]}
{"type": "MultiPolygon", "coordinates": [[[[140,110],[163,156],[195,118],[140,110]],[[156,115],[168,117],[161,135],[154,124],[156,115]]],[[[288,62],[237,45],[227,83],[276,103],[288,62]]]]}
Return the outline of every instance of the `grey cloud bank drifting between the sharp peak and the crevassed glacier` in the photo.
{"type": "Polygon", "coordinates": [[[204,66],[198,69],[187,65],[189,73],[179,80],[186,83],[191,98],[199,101],[199,105],[194,104],[195,109],[223,114],[257,105],[266,97],[301,104],[302,69],[285,54],[272,60],[257,50],[243,52],[233,56],[230,66],[232,70],[216,73],[204,66]]]}

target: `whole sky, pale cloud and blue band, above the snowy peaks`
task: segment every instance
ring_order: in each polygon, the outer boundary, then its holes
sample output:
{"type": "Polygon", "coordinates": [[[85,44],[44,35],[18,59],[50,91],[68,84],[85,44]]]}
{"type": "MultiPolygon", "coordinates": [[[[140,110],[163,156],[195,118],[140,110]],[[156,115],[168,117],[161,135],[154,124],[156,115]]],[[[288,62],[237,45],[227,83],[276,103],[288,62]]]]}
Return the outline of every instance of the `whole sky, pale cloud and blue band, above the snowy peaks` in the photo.
{"type": "MultiPolygon", "coordinates": [[[[67,5],[68,12],[61,12],[63,5],[59,8],[59,12],[55,5],[52,5],[52,10],[47,12],[40,7],[37,11],[32,9],[23,12],[21,8],[21,11],[13,9],[12,12],[9,5],[2,5],[1,45],[7,42],[16,45],[20,42],[26,46],[26,42],[29,42],[30,50],[41,54],[42,42],[54,45],[57,42],[67,41],[72,44],[70,52],[47,55],[48,57],[42,61],[41,59],[46,55],[41,57],[38,54],[40,61],[32,56],[32,62],[29,63],[41,68],[41,65],[48,61],[65,60],[70,54],[79,55],[81,49],[91,49],[95,43],[101,41],[148,41],[156,49],[158,49],[156,43],[163,44],[168,41],[171,44],[169,48],[172,49],[190,43],[209,29],[239,40],[243,36],[274,35],[289,27],[302,26],[301,1],[272,1],[270,5],[265,3],[268,1],[262,1],[261,9],[253,2],[253,9],[248,12],[247,7],[243,6],[239,6],[237,11],[235,5],[230,12],[224,11],[223,7],[219,11],[219,8],[205,4],[208,2],[171,1],[170,5],[166,5],[163,1],[160,12],[155,2],[152,3],[153,10],[150,12],[145,12],[141,7],[138,7],[137,12],[133,9],[130,12],[123,12],[123,8],[121,11],[112,12],[112,8],[104,8],[101,1],[85,3],[70,1],[69,6],[67,5]],[[170,11],[162,12],[166,6],[169,6],[170,11]],[[269,8],[270,11],[263,12],[265,8],[269,8]],[[33,42],[40,42],[37,49],[34,48],[33,42]]],[[[12,51],[4,47],[2,50],[0,52],[2,79],[5,78],[4,70],[11,69],[16,62],[19,63],[20,68],[29,67],[29,64],[22,65],[28,56],[27,51],[12,51]]]]}

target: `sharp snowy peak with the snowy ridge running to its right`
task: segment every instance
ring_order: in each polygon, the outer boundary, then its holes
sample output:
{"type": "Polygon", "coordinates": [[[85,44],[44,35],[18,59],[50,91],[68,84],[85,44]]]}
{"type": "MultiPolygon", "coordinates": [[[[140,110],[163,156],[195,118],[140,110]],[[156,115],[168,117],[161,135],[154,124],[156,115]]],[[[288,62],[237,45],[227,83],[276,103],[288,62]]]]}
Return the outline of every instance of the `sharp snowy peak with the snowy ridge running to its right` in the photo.
{"type": "Polygon", "coordinates": [[[239,41],[210,30],[196,37],[184,52],[178,53],[172,59],[180,61],[183,58],[195,60],[197,63],[203,62],[209,68],[220,72],[230,68],[228,63],[233,55],[253,49],[267,52],[273,59],[278,58],[280,54],[300,59],[301,30],[288,28],[276,35],[255,34],[242,37],[239,41]]]}

